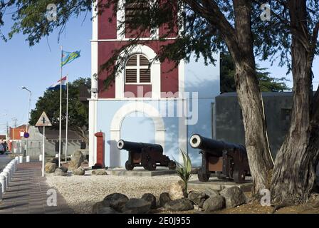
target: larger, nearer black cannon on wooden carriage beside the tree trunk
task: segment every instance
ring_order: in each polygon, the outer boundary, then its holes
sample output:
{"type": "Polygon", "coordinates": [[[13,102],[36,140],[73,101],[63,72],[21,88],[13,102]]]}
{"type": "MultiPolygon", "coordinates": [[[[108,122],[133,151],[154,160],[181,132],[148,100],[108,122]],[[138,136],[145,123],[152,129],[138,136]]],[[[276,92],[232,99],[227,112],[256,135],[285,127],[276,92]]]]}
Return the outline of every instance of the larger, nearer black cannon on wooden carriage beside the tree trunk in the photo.
{"type": "Polygon", "coordinates": [[[201,150],[199,181],[207,182],[211,173],[215,173],[219,179],[231,178],[236,183],[242,183],[250,175],[247,152],[243,145],[212,140],[197,134],[192,135],[189,143],[193,148],[201,150]]]}

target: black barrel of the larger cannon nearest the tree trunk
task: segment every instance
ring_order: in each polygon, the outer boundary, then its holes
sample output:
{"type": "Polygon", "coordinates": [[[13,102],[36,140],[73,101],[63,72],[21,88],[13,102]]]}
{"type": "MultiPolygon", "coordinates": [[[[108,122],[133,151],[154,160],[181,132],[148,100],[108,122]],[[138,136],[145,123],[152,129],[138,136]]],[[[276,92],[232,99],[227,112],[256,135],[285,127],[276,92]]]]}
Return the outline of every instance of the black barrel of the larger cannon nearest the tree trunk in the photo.
{"type": "Polygon", "coordinates": [[[210,138],[204,138],[201,135],[195,134],[189,140],[191,147],[195,149],[204,150],[205,152],[214,153],[214,155],[221,157],[224,150],[236,149],[246,153],[244,145],[228,143],[224,141],[212,140],[210,138]]]}

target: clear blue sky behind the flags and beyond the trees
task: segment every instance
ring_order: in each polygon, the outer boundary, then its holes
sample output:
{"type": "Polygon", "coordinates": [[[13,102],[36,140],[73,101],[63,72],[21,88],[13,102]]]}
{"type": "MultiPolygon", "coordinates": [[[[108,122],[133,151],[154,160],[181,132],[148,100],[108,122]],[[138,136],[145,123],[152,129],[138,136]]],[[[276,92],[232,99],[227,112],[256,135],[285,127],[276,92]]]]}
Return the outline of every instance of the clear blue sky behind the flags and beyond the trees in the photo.
{"type": "MultiPolygon", "coordinates": [[[[6,27],[1,31],[9,31],[11,21],[5,21],[6,27]]],[[[1,78],[1,108],[0,133],[4,133],[6,122],[13,125],[12,118],[18,119],[18,125],[26,123],[28,113],[28,93],[21,90],[26,86],[32,91],[31,108],[35,107],[36,100],[43,95],[43,91],[58,81],[61,75],[60,60],[63,46],[65,51],[81,51],[81,57],[63,68],[63,74],[68,74],[70,81],[79,77],[90,77],[90,38],[92,24],[90,15],[83,21],[83,17],[73,19],[68,23],[66,31],[61,35],[58,43],[58,34],[53,33],[48,39],[43,39],[36,46],[29,47],[26,36],[21,34],[4,43],[0,40],[0,78],[1,78]],[[5,115],[6,114],[6,115],[5,115]]],[[[259,62],[259,66],[269,68],[272,76],[281,78],[286,76],[286,68],[271,66],[268,62],[259,62]]],[[[318,58],[313,64],[316,89],[319,82],[318,58]]],[[[287,76],[291,80],[291,76],[287,76]]],[[[291,87],[291,83],[288,86],[291,87]]]]}

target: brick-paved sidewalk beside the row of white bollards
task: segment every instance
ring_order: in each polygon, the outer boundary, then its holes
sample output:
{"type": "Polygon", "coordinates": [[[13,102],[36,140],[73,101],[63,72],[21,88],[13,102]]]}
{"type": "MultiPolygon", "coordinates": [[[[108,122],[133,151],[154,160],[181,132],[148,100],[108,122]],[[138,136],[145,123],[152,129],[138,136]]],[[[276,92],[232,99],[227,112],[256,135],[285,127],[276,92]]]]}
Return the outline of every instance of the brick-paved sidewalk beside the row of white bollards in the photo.
{"type": "Polygon", "coordinates": [[[0,202],[0,214],[70,214],[66,200],[57,192],[57,207],[48,207],[49,187],[41,177],[41,162],[19,164],[9,189],[0,202]]]}

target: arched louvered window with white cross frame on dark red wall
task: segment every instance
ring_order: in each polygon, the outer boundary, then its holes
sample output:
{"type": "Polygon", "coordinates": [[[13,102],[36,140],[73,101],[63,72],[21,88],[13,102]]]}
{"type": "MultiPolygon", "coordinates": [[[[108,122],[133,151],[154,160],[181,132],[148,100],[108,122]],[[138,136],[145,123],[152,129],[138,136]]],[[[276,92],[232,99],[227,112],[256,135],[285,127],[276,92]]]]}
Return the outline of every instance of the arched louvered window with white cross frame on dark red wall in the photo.
{"type": "Polygon", "coordinates": [[[126,84],[151,83],[150,61],[143,55],[131,56],[125,67],[126,84]]]}

